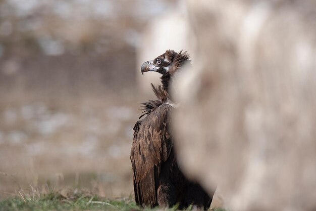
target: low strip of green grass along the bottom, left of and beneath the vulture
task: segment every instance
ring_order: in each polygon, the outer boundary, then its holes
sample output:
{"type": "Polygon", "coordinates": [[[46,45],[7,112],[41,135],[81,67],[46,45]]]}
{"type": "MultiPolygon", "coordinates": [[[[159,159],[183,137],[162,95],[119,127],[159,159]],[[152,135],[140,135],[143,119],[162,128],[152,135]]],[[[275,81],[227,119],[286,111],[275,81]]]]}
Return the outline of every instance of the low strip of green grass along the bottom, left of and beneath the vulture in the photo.
{"type": "MultiPolygon", "coordinates": [[[[136,205],[133,198],[120,198],[109,200],[92,195],[87,191],[52,191],[50,193],[24,194],[19,191],[16,196],[0,200],[0,211],[48,211],[48,210],[110,210],[110,211],[149,211],[158,210],[159,207],[149,209],[136,205]]],[[[168,210],[176,210],[177,206],[168,210]]],[[[190,210],[191,207],[188,208],[190,210]]],[[[222,208],[211,209],[225,211],[222,208]]]]}

